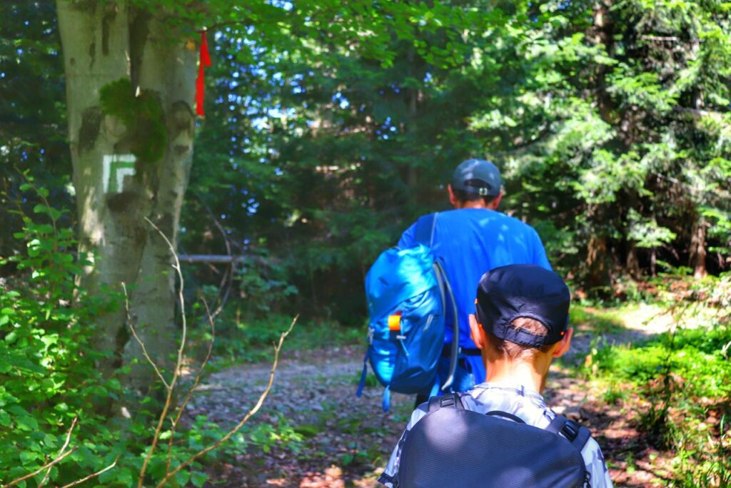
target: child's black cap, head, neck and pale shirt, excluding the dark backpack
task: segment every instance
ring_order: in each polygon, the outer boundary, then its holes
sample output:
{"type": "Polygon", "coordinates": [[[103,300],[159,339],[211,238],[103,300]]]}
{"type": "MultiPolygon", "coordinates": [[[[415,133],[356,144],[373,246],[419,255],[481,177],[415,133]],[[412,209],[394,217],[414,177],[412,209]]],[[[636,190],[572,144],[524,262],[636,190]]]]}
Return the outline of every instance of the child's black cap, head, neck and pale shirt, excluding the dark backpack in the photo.
{"type": "MultiPolygon", "coordinates": [[[[541,392],[551,361],[564,355],[571,344],[569,302],[569,289],[561,277],[539,266],[501,266],[482,276],[470,329],[487,375],[485,383],[460,395],[465,410],[504,412],[534,427],[549,427],[556,413],[541,392]]],[[[428,404],[423,404],[412,413],[379,478],[387,487],[397,485],[401,448],[409,431],[428,412],[428,404]]],[[[612,487],[599,444],[589,438],[580,454],[591,487],[612,487]]]]}

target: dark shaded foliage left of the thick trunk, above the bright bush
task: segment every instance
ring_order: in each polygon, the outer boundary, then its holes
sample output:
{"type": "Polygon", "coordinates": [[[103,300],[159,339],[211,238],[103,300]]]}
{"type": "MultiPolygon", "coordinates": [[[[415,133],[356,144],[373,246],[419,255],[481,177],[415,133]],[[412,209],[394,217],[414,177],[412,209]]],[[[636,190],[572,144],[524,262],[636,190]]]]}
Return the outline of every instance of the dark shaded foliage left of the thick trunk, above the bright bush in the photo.
{"type": "Polygon", "coordinates": [[[33,171],[54,205],[72,206],[60,50],[54,2],[0,2],[0,255],[24,252],[13,237],[23,221],[7,210],[19,203],[31,213],[39,203],[20,198],[23,171],[33,171]]]}

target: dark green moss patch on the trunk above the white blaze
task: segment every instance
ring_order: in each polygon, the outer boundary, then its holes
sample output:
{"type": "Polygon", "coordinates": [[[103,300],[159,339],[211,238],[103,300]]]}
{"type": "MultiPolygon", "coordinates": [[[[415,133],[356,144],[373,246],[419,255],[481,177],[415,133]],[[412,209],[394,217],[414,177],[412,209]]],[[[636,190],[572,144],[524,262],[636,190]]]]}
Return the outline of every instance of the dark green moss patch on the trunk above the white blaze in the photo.
{"type": "Polygon", "coordinates": [[[105,115],[120,119],[129,131],[130,151],[145,165],[165,154],[167,129],[160,97],[152,90],[135,95],[129,78],[107,83],[99,91],[99,103],[105,115]]]}

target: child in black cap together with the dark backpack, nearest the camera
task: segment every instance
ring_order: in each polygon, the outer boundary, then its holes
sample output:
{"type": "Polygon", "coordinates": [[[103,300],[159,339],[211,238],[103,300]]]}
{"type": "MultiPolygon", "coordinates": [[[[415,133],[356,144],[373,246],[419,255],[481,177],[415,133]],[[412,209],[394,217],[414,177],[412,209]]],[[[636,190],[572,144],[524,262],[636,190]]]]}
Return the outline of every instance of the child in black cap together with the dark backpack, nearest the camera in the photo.
{"type": "Polygon", "coordinates": [[[416,408],[379,481],[389,488],[611,488],[599,444],[557,416],[541,394],[551,362],[569,350],[573,334],[561,277],[539,266],[501,266],[485,273],[476,295],[469,326],[486,381],[416,408]]]}

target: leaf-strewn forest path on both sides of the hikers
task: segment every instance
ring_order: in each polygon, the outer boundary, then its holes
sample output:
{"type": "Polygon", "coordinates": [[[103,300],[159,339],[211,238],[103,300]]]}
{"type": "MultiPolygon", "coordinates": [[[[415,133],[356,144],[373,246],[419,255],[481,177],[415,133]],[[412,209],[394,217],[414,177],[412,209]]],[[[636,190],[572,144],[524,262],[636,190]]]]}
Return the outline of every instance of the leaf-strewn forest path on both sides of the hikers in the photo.
{"type": "MultiPolygon", "coordinates": [[[[591,380],[577,377],[571,366],[583,362],[597,343],[636,343],[667,330],[673,321],[658,312],[639,307],[620,318],[575,323],[572,352],[552,369],[545,391],[554,410],[592,429],[617,486],[665,484],[656,473],[667,468],[670,454],[645,446],[633,427],[635,409],[641,406],[632,404],[639,401],[636,394],[607,405],[591,380]]],[[[384,413],[383,389],[373,382],[363,397],[355,397],[362,358],[363,346],[308,351],[285,347],[269,397],[249,426],[260,432],[267,432],[268,425],[278,426],[271,432],[284,427],[284,438],[270,440],[268,452],[262,450],[260,440],[245,454],[227,455],[209,470],[211,481],[206,486],[381,486],[376,478],[408,421],[414,400],[393,394],[391,410],[384,413]],[[301,440],[292,441],[292,434],[301,440]]],[[[221,427],[235,424],[264,391],[269,373],[270,364],[244,364],[211,375],[200,385],[186,416],[205,414],[221,427]]]]}

